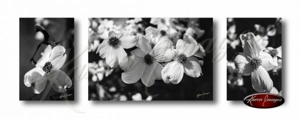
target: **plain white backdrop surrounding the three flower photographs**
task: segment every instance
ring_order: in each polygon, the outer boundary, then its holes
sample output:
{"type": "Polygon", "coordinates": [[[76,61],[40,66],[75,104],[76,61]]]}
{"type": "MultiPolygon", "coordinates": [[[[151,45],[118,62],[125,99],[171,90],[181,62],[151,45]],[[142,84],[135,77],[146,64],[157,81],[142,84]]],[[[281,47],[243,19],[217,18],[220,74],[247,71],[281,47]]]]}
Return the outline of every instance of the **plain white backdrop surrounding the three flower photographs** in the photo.
{"type": "Polygon", "coordinates": [[[299,2],[298,1],[1,1],[0,2],[0,118],[266,118],[299,116],[299,2]],[[87,73],[90,17],[212,17],[217,53],[226,53],[227,17],[282,17],[283,97],[271,109],[226,101],[226,56],[214,65],[214,101],[116,102],[88,101],[87,75],[75,81],[75,100],[19,101],[19,18],[75,18],[77,72],[87,73]]]}

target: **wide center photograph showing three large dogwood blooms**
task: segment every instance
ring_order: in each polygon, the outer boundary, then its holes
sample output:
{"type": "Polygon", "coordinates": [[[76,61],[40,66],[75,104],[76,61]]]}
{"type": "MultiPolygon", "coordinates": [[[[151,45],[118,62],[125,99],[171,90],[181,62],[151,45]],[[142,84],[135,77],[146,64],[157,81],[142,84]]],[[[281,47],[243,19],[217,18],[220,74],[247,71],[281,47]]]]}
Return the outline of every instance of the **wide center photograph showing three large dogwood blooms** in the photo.
{"type": "Polygon", "coordinates": [[[212,18],[89,18],[89,100],[213,100],[212,18]]]}

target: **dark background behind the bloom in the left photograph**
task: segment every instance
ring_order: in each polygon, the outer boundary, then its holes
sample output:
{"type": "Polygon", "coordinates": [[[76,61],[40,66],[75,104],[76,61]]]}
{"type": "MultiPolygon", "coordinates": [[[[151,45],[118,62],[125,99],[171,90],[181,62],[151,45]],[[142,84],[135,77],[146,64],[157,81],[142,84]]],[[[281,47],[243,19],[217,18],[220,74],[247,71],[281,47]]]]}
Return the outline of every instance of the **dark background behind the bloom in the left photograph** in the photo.
{"type": "MultiPolygon", "coordinates": [[[[74,100],[74,18],[50,18],[53,21],[50,25],[44,26],[48,33],[55,37],[56,44],[62,45],[66,49],[67,59],[64,64],[69,64],[60,70],[64,71],[72,80],[72,87],[67,88],[67,93],[72,94],[67,96],[68,100],[74,100]]],[[[40,94],[35,94],[31,87],[27,87],[24,84],[24,75],[29,70],[33,69],[35,65],[31,64],[30,59],[34,55],[38,45],[43,41],[35,39],[35,19],[34,18],[20,18],[20,100],[41,100],[45,90],[48,88],[48,84],[44,91],[40,94]]],[[[44,51],[46,45],[42,45],[36,56],[35,61],[38,61],[41,57],[41,52],[44,51]]],[[[52,46],[53,48],[53,46],[52,46]]],[[[50,87],[50,91],[46,95],[44,100],[60,100],[61,93],[56,92],[50,87]]]]}

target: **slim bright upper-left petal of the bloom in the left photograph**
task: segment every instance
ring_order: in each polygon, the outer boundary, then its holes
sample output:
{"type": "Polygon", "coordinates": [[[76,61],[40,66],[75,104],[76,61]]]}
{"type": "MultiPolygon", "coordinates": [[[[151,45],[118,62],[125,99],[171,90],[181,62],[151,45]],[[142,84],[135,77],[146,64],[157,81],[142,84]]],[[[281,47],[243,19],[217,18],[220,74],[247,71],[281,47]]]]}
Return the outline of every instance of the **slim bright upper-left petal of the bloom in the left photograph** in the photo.
{"type": "Polygon", "coordinates": [[[50,55],[51,55],[51,51],[52,51],[52,48],[51,48],[51,45],[48,45],[44,52],[41,53],[42,57],[38,60],[37,64],[36,64],[36,67],[42,67],[45,65],[46,62],[49,61],[50,59],[50,55]]]}

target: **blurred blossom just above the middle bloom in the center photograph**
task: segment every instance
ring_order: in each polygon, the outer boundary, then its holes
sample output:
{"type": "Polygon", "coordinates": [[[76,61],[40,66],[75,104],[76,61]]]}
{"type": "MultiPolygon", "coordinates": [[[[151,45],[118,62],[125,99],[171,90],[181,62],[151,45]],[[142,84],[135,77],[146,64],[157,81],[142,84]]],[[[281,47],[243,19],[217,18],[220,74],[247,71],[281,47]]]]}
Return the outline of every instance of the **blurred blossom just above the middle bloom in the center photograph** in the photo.
{"type": "Polygon", "coordinates": [[[151,45],[156,45],[162,39],[174,38],[177,35],[177,31],[169,27],[161,27],[160,29],[147,27],[145,33],[145,37],[151,45]]]}

